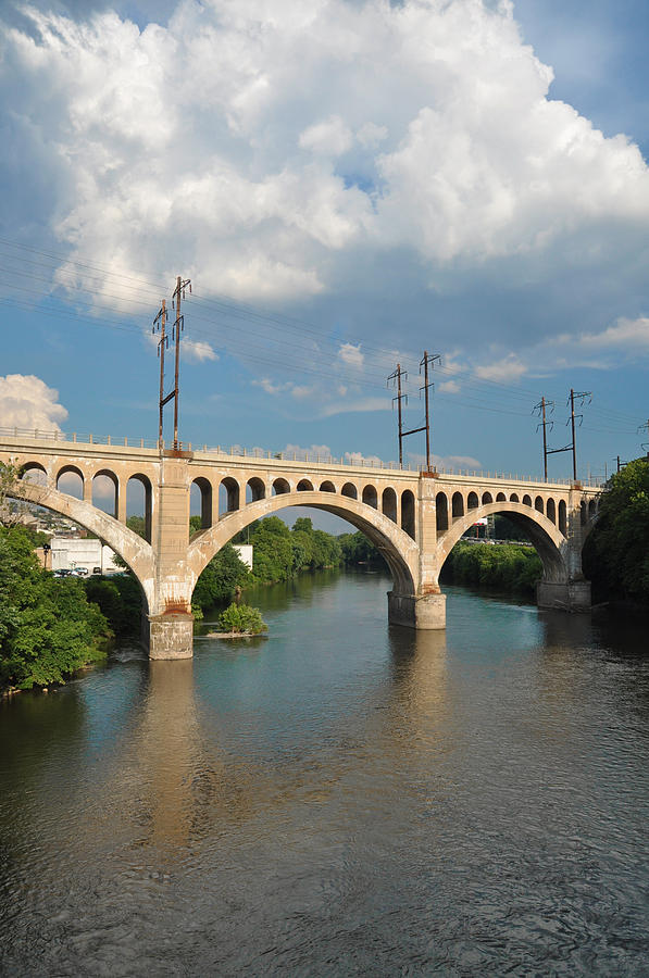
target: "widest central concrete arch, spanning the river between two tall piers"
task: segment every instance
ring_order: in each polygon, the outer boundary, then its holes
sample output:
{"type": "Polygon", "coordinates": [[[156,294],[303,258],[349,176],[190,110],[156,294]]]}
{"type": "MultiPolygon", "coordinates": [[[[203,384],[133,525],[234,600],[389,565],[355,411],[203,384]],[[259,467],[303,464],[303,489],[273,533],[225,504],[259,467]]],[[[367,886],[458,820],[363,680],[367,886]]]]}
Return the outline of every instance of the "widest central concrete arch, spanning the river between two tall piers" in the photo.
{"type": "Polygon", "coordinates": [[[392,575],[395,590],[412,594],[417,586],[419,549],[414,540],[383,513],[367,503],[347,496],[326,491],[286,492],[249,503],[241,510],[224,514],[209,530],[195,537],[189,544],[188,565],[194,584],[212,557],[240,530],[255,519],[270,516],[287,506],[313,506],[340,516],[361,530],[382,552],[392,575]]]}

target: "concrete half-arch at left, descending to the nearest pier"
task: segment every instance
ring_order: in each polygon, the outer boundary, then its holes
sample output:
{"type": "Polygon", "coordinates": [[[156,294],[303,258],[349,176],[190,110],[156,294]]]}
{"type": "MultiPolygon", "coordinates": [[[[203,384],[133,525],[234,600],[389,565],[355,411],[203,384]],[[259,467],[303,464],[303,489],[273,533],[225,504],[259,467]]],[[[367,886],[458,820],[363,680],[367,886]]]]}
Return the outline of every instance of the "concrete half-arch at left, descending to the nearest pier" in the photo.
{"type": "Polygon", "coordinates": [[[22,499],[25,502],[60,513],[61,516],[67,516],[91,534],[96,534],[128,564],[139,581],[147,606],[152,606],[155,559],[150,543],[147,543],[124,524],[117,523],[103,510],[98,510],[91,503],[76,499],[74,496],[67,496],[58,489],[21,480],[12,487],[11,494],[15,499],[22,499]]]}

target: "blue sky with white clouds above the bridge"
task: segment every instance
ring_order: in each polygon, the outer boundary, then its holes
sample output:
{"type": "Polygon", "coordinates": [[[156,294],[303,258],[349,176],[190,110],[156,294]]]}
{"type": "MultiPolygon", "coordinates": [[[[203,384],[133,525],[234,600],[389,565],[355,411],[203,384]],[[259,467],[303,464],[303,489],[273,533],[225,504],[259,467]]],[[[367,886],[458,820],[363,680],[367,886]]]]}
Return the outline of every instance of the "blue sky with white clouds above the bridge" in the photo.
{"type": "Polygon", "coordinates": [[[2,426],[153,440],[180,275],[183,441],[396,460],[386,378],[408,372],[419,427],[427,351],[438,466],[542,473],[534,409],[569,444],[571,388],[581,476],[646,451],[645,3],[3,0],[0,21],[2,426]]]}

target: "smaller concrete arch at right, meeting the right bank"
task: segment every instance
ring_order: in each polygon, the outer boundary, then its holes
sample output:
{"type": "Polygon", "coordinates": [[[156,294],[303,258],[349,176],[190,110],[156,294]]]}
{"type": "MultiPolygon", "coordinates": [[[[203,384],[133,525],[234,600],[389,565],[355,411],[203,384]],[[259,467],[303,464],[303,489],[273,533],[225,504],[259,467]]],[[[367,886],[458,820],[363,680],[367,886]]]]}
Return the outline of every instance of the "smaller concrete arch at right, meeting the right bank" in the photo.
{"type": "Polygon", "coordinates": [[[473,526],[476,519],[484,516],[502,514],[512,523],[523,528],[532,540],[544,565],[544,580],[562,584],[569,579],[569,566],[565,560],[567,540],[551,519],[541,512],[524,503],[495,502],[483,504],[471,510],[466,515],[453,519],[452,526],[438,538],[437,574],[458,540],[473,526]]]}

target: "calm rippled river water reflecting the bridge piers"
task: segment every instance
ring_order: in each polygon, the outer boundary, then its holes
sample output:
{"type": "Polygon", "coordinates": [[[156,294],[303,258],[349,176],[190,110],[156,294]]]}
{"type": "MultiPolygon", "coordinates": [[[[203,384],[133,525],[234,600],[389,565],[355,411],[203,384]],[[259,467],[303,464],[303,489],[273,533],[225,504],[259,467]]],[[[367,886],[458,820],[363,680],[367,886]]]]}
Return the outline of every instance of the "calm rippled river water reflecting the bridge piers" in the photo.
{"type": "Polygon", "coordinates": [[[646,629],[388,587],[4,702],[0,974],[648,975],[646,629]]]}

